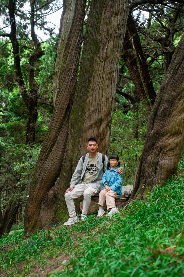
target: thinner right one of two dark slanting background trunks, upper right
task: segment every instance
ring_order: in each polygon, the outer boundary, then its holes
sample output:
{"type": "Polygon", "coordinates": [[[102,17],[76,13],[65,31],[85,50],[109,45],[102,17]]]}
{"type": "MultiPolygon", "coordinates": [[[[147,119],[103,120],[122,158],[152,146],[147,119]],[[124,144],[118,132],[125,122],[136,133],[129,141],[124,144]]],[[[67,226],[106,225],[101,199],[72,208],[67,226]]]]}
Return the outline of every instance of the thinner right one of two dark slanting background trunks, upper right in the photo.
{"type": "MultiPolygon", "coordinates": [[[[152,108],[156,98],[156,92],[154,90],[153,83],[150,78],[150,74],[148,72],[145,56],[143,53],[141,42],[139,40],[139,36],[137,34],[137,29],[135,27],[131,12],[129,13],[129,17],[127,20],[127,31],[129,33],[129,37],[133,48],[133,53],[135,55],[137,67],[139,70],[139,74],[140,74],[141,81],[143,84],[143,89],[144,89],[144,93],[140,93],[139,88],[137,92],[141,100],[144,100],[146,97],[148,97],[151,100],[150,108],[152,108]]],[[[141,89],[141,92],[142,92],[142,89],[141,89]]]]}

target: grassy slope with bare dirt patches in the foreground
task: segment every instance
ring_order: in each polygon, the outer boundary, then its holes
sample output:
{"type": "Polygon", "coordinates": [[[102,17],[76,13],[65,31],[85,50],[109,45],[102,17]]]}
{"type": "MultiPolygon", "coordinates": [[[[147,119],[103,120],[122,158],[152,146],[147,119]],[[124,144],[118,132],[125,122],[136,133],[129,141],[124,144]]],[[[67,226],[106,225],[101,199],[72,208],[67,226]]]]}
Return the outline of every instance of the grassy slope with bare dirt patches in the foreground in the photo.
{"type": "Polygon", "coordinates": [[[183,195],[179,175],[110,220],[90,215],[27,239],[7,235],[0,276],[184,276],[183,195]]]}

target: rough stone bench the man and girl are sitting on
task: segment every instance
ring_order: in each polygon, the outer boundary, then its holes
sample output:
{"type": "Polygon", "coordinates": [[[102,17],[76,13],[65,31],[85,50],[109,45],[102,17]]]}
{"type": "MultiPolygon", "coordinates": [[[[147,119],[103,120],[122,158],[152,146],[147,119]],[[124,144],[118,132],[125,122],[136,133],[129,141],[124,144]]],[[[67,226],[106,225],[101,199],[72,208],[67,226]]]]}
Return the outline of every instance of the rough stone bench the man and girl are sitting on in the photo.
{"type": "MultiPolygon", "coordinates": [[[[116,207],[121,206],[122,202],[127,201],[127,199],[129,198],[129,196],[131,195],[133,190],[133,186],[129,185],[129,186],[123,186],[122,187],[122,194],[121,195],[116,195],[115,196],[115,203],[116,203],[116,207]],[[124,196],[124,194],[126,194],[126,192],[130,192],[128,198],[124,196]]],[[[94,211],[98,210],[98,196],[99,193],[95,194],[94,196],[91,197],[91,205],[89,207],[88,210],[88,214],[94,213],[94,211]]],[[[80,196],[77,198],[78,200],[81,200],[80,202],[80,210],[82,212],[83,209],[83,196],[80,196]]],[[[107,209],[106,204],[104,205],[104,210],[107,209]]]]}

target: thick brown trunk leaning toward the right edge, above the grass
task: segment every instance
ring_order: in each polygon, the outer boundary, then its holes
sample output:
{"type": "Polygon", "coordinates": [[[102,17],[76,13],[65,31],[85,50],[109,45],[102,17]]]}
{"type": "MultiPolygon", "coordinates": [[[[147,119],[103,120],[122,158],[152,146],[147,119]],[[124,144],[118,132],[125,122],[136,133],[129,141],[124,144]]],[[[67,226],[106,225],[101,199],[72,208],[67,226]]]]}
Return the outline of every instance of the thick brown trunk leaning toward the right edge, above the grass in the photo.
{"type": "Polygon", "coordinates": [[[177,174],[184,143],[184,35],[160,86],[147,124],[131,198],[146,198],[156,184],[177,174]]]}

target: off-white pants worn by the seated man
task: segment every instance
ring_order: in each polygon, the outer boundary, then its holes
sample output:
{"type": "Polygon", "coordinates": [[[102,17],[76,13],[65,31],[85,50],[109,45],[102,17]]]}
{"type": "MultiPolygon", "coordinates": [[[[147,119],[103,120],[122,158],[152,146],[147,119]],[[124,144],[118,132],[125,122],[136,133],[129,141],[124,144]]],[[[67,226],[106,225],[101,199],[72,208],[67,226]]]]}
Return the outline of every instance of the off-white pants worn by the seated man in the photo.
{"type": "Polygon", "coordinates": [[[74,187],[72,191],[66,193],[64,196],[70,217],[76,216],[75,205],[73,200],[74,198],[78,198],[82,195],[84,196],[82,214],[87,215],[89,206],[91,204],[91,196],[94,196],[97,193],[98,190],[94,187],[91,187],[90,183],[78,184],[74,187]]]}

